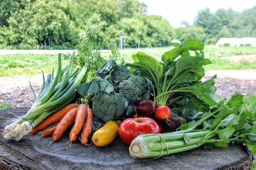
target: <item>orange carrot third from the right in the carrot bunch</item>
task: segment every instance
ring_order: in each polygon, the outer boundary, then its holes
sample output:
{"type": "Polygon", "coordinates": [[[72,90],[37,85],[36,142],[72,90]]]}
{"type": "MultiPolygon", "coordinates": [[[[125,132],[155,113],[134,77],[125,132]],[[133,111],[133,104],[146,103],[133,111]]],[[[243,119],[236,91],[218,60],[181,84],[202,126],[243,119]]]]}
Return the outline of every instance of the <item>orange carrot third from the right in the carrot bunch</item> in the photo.
{"type": "Polygon", "coordinates": [[[52,134],[53,141],[58,141],[61,139],[63,133],[67,130],[67,128],[75,122],[76,113],[78,108],[73,108],[65,114],[65,116],[58,123],[54,133],[52,134]]]}

